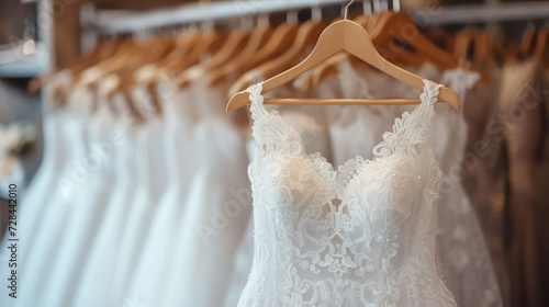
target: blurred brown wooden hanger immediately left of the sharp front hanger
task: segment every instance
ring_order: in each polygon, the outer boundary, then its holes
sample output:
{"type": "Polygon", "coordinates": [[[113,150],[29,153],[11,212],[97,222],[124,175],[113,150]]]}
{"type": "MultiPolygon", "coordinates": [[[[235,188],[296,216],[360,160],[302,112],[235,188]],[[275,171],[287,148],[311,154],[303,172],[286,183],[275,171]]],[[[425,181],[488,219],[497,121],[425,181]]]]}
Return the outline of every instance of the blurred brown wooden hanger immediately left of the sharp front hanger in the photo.
{"type": "Polygon", "coordinates": [[[314,46],[324,27],[325,25],[321,21],[311,20],[305,22],[300,26],[295,42],[292,44],[290,49],[276,59],[265,62],[260,67],[243,75],[231,87],[228,91],[229,94],[243,91],[247,88],[247,84],[255,82],[257,79],[272,77],[298,64],[302,58],[303,53],[305,53],[309,47],[314,46]]]}

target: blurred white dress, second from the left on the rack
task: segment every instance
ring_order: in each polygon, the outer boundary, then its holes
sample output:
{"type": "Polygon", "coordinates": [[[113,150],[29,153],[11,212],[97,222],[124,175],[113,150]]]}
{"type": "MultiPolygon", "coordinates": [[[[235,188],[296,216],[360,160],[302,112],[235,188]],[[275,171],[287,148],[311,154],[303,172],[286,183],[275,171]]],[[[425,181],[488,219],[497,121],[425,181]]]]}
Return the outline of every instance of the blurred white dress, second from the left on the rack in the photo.
{"type": "Polygon", "coordinates": [[[75,200],[75,209],[65,221],[65,232],[56,243],[55,261],[47,265],[48,282],[43,286],[44,306],[71,306],[81,268],[97,236],[112,189],[115,185],[114,151],[120,150],[113,114],[107,100],[99,101],[89,118],[90,178],[75,200]],[[93,162],[91,162],[93,161],[93,162]]]}

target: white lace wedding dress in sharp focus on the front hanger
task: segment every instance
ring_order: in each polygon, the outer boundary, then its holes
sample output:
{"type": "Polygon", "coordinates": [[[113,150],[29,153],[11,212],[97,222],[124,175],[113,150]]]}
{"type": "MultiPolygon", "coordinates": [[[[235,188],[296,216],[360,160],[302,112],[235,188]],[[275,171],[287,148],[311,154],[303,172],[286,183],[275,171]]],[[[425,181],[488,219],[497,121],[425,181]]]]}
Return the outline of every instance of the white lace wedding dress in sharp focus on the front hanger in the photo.
{"type": "Polygon", "coordinates": [[[439,84],[373,148],[334,170],[248,89],[254,265],[239,307],[456,306],[435,260],[438,169],[427,146],[439,84]]]}

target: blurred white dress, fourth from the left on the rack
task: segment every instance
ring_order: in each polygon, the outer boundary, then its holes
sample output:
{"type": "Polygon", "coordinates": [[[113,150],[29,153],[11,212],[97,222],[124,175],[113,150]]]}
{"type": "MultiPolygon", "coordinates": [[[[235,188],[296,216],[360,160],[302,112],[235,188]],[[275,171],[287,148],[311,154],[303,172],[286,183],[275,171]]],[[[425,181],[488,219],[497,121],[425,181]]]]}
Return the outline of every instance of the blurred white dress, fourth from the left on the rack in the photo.
{"type": "Polygon", "coordinates": [[[127,211],[127,218],[122,230],[121,245],[111,284],[109,304],[122,306],[127,299],[126,288],[143,252],[145,238],[150,229],[153,217],[167,185],[167,166],[165,159],[165,125],[158,115],[146,114],[150,110],[149,101],[136,102],[139,113],[147,116],[135,134],[137,181],[134,185],[134,198],[127,211]],[[152,115],[152,116],[150,116],[152,115]]]}

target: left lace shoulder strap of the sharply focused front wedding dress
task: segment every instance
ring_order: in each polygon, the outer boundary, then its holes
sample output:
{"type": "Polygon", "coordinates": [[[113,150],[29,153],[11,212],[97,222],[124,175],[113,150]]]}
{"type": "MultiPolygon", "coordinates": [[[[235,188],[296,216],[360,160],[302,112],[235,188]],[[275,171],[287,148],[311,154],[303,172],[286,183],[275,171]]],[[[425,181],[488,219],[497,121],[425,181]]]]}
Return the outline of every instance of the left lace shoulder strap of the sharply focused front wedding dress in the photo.
{"type": "Polygon", "coordinates": [[[261,90],[261,82],[253,84],[246,90],[249,93],[250,113],[254,121],[251,137],[264,149],[300,154],[302,150],[300,134],[282,120],[277,110],[267,111],[261,90]]]}

